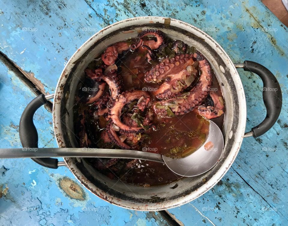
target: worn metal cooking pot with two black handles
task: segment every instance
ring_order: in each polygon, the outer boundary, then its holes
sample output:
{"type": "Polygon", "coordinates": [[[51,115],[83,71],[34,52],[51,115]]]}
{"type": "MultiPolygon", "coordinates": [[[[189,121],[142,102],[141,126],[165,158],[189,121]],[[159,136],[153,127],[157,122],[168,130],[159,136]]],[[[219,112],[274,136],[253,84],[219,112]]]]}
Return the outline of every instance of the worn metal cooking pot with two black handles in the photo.
{"type": "Polygon", "coordinates": [[[152,16],[126,19],[104,28],[87,40],[70,58],[59,78],[55,96],[40,95],[26,107],[20,120],[19,134],[23,147],[38,147],[33,115],[49,98],[54,97],[53,124],[58,146],[77,147],[73,134],[73,105],[77,85],[84,78],[84,69],[107,46],[136,37],[144,29],[159,29],[171,38],[194,46],[210,62],[225,100],[224,150],[216,166],[205,174],[182,178],[173,184],[137,187],[110,180],[88,165],[85,158],[64,158],[64,162],[52,158],[33,160],[54,169],[66,165],[88,190],[112,204],[134,210],[164,210],[200,197],[220,181],[234,162],[243,138],[257,137],[268,131],[276,122],[282,105],[280,86],[268,69],[251,61],[234,64],[223,48],[198,28],[176,19],[152,16]],[[267,116],[248,133],[245,133],[245,94],[236,68],[256,73],[264,85],[263,99],[267,116]]]}

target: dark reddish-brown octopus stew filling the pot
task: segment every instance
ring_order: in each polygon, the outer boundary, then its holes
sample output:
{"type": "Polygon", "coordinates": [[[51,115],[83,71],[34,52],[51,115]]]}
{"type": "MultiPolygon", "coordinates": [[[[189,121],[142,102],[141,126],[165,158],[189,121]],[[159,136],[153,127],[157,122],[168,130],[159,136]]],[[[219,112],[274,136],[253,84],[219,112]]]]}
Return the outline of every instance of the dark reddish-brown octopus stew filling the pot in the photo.
{"type": "MultiPolygon", "coordinates": [[[[209,62],[195,48],[144,31],[115,43],[85,69],[74,128],[80,147],[121,148],[181,158],[206,139],[208,119],[223,123],[224,102],[209,62]]],[[[111,179],[138,186],[181,178],[164,164],[86,159],[111,179]]]]}

